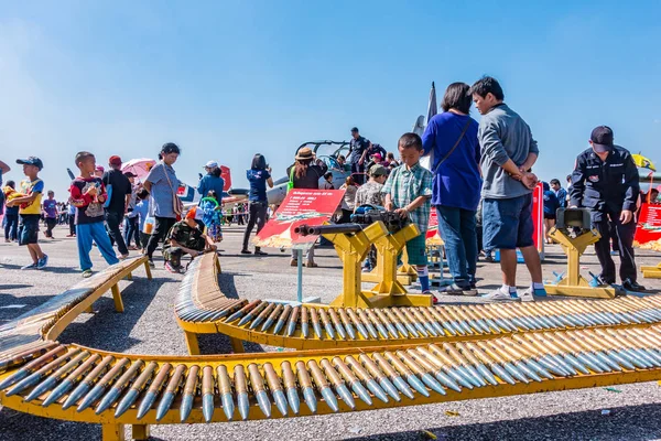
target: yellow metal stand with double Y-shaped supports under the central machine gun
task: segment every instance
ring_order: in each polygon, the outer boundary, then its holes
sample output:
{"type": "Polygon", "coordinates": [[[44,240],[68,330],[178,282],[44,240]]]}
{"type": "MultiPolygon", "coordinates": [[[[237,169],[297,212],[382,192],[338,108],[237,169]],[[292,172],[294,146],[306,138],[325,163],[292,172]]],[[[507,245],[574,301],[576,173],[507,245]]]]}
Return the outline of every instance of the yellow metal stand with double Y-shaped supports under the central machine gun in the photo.
{"type": "Polygon", "coordinates": [[[377,222],[361,232],[351,234],[325,234],[326,239],[335,246],[343,262],[343,293],[332,306],[345,308],[388,308],[388,306],[431,306],[431,295],[408,294],[404,287],[397,281],[397,255],[408,239],[418,235],[415,226],[408,226],[390,236],[386,225],[377,222]],[[411,229],[412,227],[413,229],[411,229]],[[400,234],[397,236],[398,234],[400,234]],[[382,248],[378,252],[382,278],[372,291],[362,291],[362,273],[360,262],[367,256],[371,245],[382,248]],[[398,250],[399,249],[399,250],[398,250]],[[398,250],[395,252],[395,250],[398,250]]]}

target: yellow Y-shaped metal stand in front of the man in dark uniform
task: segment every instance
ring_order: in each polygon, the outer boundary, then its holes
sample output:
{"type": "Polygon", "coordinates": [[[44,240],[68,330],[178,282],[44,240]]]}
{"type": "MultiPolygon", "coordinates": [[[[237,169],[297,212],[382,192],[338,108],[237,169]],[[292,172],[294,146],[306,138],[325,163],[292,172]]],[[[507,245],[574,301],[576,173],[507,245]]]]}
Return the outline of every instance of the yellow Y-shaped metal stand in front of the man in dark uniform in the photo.
{"type": "Polygon", "coordinates": [[[589,282],[581,276],[581,256],[588,245],[593,245],[602,237],[598,232],[589,230],[572,238],[562,230],[554,228],[549,236],[557,241],[567,255],[567,272],[557,284],[544,284],[546,293],[570,297],[589,297],[597,299],[615,298],[615,289],[610,287],[590,287],[589,282]]]}

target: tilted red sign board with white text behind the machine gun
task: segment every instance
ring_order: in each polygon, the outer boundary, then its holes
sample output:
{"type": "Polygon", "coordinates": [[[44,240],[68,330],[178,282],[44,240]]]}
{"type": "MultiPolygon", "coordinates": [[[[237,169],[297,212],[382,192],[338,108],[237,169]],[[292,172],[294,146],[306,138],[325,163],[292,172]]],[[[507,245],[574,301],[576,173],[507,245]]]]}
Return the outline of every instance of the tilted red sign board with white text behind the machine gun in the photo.
{"type": "Polygon", "coordinates": [[[317,236],[300,236],[294,232],[299,225],[323,225],[337,209],[344,190],[294,189],[253,239],[258,247],[307,248],[317,236]]]}

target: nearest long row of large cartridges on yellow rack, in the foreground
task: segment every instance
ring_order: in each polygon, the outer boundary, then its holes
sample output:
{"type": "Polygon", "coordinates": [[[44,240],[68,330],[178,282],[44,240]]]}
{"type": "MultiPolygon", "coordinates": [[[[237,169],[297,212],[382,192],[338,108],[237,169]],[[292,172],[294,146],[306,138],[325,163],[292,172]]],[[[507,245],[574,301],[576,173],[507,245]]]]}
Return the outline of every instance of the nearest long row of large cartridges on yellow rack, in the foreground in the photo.
{"type": "Polygon", "coordinates": [[[231,356],[113,354],[50,342],[0,375],[2,404],[87,422],[307,416],[661,378],[661,325],[473,342],[231,356]]]}

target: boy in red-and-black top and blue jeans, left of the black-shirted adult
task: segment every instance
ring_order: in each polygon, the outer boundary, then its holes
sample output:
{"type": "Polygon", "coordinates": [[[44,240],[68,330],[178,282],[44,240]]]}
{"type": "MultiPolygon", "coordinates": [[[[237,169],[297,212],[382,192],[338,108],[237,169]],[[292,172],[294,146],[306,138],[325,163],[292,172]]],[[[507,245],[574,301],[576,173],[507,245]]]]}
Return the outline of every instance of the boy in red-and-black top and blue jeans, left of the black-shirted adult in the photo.
{"type": "Polygon", "coordinates": [[[76,166],[80,175],[72,181],[69,187],[69,202],[76,209],[76,243],[78,244],[78,259],[83,277],[91,276],[91,260],[89,251],[91,241],[97,244],[101,256],[108,265],[119,262],[115,255],[110,238],[104,226],[104,203],[107,200],[106,187],[100,178],[94,175],[96,159],[87,151],[76,153],[76,166]]]}

